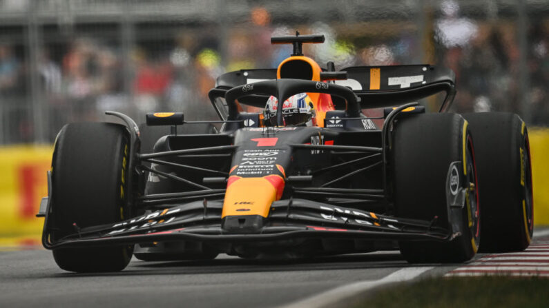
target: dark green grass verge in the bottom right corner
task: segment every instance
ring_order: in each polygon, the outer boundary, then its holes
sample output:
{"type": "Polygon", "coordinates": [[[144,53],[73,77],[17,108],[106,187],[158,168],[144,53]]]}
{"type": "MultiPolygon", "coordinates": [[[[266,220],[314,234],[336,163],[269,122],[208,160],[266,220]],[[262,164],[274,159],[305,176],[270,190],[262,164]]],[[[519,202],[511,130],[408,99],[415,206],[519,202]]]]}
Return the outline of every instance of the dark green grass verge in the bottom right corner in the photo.
{"type": "Polygon", "coordinates": [[[374,290],[350,307],[549,307],[549,279],[427,278],[374,290]]]}

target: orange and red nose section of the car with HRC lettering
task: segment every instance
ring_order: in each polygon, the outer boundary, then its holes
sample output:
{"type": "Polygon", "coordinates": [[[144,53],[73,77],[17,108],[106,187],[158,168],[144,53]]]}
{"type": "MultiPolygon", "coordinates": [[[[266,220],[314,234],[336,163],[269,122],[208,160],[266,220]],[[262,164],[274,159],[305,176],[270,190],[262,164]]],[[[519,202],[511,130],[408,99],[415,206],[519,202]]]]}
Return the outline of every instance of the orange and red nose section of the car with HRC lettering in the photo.
{"type": "Polygon", "coordinates": [[[262,178],[229,177],[221,218],[236,215],[269,216],[271,203],[280,199],[284,178],[269,175],[262,178]]]}

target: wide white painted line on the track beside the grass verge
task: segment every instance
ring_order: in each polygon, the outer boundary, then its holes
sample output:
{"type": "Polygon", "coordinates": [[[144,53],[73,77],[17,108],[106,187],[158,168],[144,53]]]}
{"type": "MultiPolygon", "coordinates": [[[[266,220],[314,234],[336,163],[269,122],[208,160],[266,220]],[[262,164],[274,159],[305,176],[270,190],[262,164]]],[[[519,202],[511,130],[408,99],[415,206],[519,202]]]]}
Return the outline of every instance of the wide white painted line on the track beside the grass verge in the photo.
{"type": "Polygon", "coordinates": [[[335,289],[322,292],[322,294],[311,296],[309,298],[299,300],[298,302],[293,302],[289,305],[283,306],[282,308],[337,307],[340,300],[351,296],[356,296],[367,289],[379,287],[387,283],[400,283],[403,281],[412,280],[425,273],[425,271],[429,271],[433,268],[434,267],[405,267],[379,280],[365,280],[359,281],[358,283],[351,283],[349,285],[336,287],[335,289]]]}

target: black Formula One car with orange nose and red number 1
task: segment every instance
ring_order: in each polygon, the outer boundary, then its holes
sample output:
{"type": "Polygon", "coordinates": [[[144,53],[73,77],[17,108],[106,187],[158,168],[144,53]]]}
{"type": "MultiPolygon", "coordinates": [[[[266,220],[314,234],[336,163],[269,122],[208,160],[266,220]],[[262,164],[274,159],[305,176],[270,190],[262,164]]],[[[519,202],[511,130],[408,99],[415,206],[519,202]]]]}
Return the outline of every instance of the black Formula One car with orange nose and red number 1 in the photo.
{"type": "Polygon", "coordinates": [[[65,125],[38,214],[57,265],[118,271],[132,255],[379,249],[400,249],[410,263],[459,263],[479,247],[528,247],[532,177],[519,116],[447,112],[456,91],[443,68],[320,68],[302,44],[323,41],[273,37],[293,45],[278,68],[221,75],[209,92],[219,121],[147,114],[147,125],[166,130],[150,153],[124,114],[106,112],[126,125],[65,125]],[[441,92],[440,112],[425,113],[418,101],[441,92]],[[244,112],[249,106],[262,112],[244,112]],[[385,109],[365,116],[372,108],[385,109]],[[193,125],[217,128],[185,132],[193,125]]]}

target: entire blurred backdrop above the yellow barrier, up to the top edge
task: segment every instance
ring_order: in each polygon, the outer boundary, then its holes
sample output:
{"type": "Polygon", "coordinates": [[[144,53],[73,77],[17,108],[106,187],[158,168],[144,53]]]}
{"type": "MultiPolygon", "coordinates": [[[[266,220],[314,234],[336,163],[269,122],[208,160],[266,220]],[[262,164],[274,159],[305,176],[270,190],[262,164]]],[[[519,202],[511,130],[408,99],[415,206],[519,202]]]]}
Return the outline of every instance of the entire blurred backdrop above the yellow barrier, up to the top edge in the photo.
{"type": "Polygon", "coordinates": [[[549,123],[549,1],[0,0],[0,145],[52,143],[62,125],[117,110],[214,119],[230,70],[273,68],[271,35],[325,34],[321,66],[452,68],[454,111],[549,123]]]}

